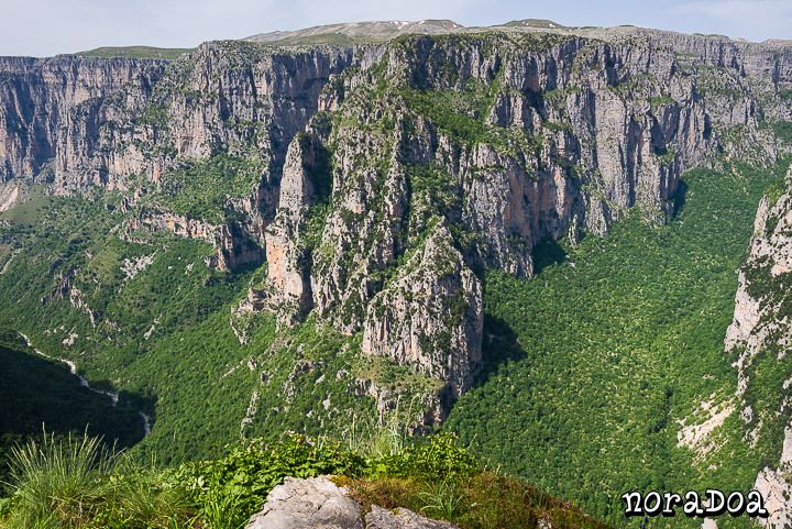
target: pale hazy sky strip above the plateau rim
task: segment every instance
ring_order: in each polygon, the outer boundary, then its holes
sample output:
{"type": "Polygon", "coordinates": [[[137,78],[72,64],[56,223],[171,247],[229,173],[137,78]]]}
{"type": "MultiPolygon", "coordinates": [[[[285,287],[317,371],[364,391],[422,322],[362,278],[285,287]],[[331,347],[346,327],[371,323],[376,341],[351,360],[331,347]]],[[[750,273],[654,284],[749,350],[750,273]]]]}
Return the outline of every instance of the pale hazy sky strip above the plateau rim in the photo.
{"type": "Polygon", "coordinates": [[[0,0],[0,55],[46,56],[105,45],[191,47],[216,38],[364,20],[452,19],[490,25],[528,18],[751,41],[792,38],[792,0],[0,0]]]}

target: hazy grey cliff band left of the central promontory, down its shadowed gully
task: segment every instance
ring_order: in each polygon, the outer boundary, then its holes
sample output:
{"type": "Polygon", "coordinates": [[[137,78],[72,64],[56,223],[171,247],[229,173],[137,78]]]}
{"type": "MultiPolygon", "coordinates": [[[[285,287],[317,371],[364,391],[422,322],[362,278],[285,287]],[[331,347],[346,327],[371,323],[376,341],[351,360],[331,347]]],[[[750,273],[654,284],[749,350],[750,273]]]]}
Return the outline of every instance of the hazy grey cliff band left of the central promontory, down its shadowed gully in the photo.
{"type": "MultiPolygon", "coordinates": [[[[151,187],[183,161],[252,158],[266,169],[228,197],[234,221],[215,239],[220,267],[261,264],[286,147],[350,60],[348,49],[232,42],[205,44],[173,63],[0,59],[0,183],[35,178],[62,195],[132,191],[141,177],[151,187]]],[[[8,189],[0,189],[2,203],[16,199],[8,189]]]]}

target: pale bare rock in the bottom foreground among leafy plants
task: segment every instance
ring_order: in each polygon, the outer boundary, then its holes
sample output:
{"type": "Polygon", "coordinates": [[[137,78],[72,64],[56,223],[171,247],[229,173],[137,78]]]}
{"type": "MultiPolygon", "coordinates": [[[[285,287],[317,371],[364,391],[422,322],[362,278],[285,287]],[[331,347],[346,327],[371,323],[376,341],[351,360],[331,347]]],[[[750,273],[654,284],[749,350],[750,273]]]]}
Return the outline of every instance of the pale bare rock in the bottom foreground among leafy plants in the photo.
{"type": "Polygon", "coordinates": [[[273,488],[264,509],[245,529],[453,529],[407,509],[396,511],[372,505],[369,513],[349,497],[349,491],[327,477],[287,477],[273,488]]]}

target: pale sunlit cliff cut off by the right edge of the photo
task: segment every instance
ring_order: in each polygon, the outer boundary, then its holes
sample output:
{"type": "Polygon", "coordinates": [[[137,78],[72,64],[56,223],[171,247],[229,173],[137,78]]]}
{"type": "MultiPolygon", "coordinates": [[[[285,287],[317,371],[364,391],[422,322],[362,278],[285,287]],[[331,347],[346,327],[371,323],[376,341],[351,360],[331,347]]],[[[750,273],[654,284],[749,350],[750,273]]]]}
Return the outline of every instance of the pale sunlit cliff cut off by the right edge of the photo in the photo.
{"type": "Polygon", "coordinates": [[[792,368],[785,361],[792,337],[790,189],[792,174],[782,191],[766,196],[759,206],[725,341],[726,349],[737,356],[737,396],[741,399],[746,440],[766,454],[765,461],[778,461],[765,466],[755,483],[770,511],[770,517],[760,522],[773,529],[792,524],[792,368]],[[768,392],[780,396],[778,404],[757,397],[768,392]],[[778,439],[774,431],[783,431],[783,438],[778,439]]]}

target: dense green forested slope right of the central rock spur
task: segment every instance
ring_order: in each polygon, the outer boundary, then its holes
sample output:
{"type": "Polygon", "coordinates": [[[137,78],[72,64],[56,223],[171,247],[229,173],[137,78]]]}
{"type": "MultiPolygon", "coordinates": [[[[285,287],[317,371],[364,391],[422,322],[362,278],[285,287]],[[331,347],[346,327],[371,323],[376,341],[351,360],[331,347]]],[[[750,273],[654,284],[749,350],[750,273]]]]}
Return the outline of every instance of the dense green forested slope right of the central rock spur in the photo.
{"type": "Polygon", "coordinates": [[[762,453],[740,441],[736,414],[705,458],[676,445],[676,420],[734,395],[734,359],[723,348],[734,271],[759,197],[785,167],[690,172],[669,225],[632,211],[606,239],[551,252],[558,264],[535,279],[487,274],[487,376],[448,428],[610,521],[622,517],[624,491],[747,489],[762,453]]]}

